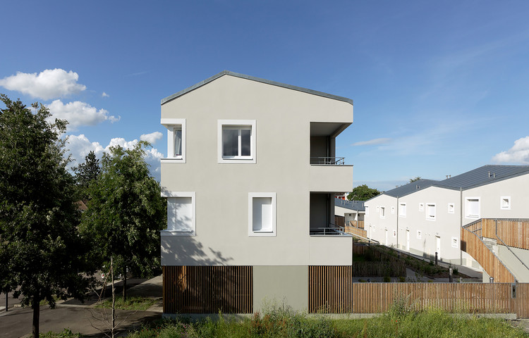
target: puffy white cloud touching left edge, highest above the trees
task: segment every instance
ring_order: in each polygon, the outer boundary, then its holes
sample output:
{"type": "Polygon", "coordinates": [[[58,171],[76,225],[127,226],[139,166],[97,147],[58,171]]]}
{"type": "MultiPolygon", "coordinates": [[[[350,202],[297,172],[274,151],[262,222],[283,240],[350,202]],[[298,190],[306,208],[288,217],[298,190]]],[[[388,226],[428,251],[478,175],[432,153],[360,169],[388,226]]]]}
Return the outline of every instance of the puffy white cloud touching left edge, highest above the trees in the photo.
{"type": "Polygon", "coordinates": [[[43,100],[83,92],[86,86],[77,83],[77,73],[61,68],[43,70],[41,73],[16,73],[0,80],[0,86],[43,100]]]}

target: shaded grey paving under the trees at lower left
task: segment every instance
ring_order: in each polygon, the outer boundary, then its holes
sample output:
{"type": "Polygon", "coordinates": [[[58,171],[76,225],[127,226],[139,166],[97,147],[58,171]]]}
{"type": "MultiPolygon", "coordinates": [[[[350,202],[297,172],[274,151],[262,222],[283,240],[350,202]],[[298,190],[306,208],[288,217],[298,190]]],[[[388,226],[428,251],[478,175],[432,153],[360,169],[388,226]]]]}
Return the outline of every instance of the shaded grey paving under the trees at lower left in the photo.
{"type": "MultiPolygon", "coordinates": [[[[116,323],[123,323],[119,326],[122,334],[130,330],[135,330],[147,321],[162,318],[162,276],[154,277],[150,280],[132,279],[127,281],[128,285],[133,285],[127,289],[129,296],[142,296],[157,299],[157,302],[147,311],[116,311],[116,323]]],[[[117,287],[122,287],[122,282],[116,282],[117,287]]],[[[107,294],[108,295],[108,294],[107,294]]],[[[5,295],[0,301],[5,306],[5,295]]],[[[18,299],[8,298],[8,311],[0,312],[0,338],[4,337],[28,337],[31,334],[33,311],[31,308],[20,307],[18,299]]],[[[61,332],[68,328],[72,332],[80,332],[85,337],[104,337],[102,330],[108,330],[105,320],[110,315],[109,309],[94,308],[96,299],[80,303],[75,299],[59,301],[55,309],[48,306],[40,307],[39,330],[44,332],[61,332]]]]}

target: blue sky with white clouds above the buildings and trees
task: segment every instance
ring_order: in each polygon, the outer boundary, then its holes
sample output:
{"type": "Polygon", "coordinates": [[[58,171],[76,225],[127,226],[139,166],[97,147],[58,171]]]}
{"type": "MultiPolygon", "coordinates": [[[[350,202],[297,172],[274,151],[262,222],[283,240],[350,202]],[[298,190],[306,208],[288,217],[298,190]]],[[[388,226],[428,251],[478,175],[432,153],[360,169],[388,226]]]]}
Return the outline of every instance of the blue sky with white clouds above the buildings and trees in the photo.
{"type": "Polygon", "coordinates": [[[232,70],[353,99],[336,152],[355,185],[529,164],[529,1],[8,1],[2,12],[0,92],[68,118],[81,161],[147,139],[159,177],[160,99],[232,70]]]}

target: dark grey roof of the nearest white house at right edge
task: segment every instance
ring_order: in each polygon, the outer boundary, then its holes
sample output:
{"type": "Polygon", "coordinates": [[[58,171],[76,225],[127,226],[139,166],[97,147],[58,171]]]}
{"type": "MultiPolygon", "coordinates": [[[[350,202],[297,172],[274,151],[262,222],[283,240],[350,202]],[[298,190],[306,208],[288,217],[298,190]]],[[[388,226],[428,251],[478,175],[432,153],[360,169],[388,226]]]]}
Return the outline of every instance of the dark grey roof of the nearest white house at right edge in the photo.
{"type": "Polygon", "coordinates": [[[529,165],[483,165],[435,184],[452,189],[469,189],[529,173],[529,165]]]}

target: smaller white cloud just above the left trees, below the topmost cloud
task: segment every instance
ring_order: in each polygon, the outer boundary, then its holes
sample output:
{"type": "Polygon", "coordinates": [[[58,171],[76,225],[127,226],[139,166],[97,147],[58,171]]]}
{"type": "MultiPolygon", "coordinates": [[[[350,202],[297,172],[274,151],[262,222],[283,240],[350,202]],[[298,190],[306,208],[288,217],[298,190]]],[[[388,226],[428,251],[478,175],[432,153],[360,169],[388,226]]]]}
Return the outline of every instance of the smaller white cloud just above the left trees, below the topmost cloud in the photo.
{"type": "Polygon", "coordinates": [[[120,117],[116,118],[113,115],[109,115],[109,112],[105,109],[99,109],[98,111],[97,108],[81,101],[63,104],[61,100],[55,100],[48,104],[47,107],[53,118],[68,120],[68,127],[73,130],[80,125],[97,125],[106,120],[114,123],[120,119],[120,117]]]}

